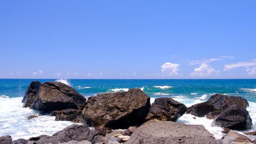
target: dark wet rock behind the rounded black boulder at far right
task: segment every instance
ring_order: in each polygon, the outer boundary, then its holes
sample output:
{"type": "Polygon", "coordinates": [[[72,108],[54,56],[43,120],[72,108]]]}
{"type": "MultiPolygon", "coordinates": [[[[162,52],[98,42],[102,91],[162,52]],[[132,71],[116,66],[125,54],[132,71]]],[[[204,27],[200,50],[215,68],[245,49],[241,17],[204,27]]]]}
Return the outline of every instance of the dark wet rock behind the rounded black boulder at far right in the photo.
{"type": "Polygon", "coordinates": [[[242,108],[246,108],[247,106],[249,106],[248,101],[240,96],[226,96],[223,94],[214,94],[206,102],[194,104],[193,106],[189,107],[187,113],[198,117],[204,117],[210,112],[217,111],[215,113],[212,113],[208,117],[214,119],[224,106],[229,106],[232,104],[237,104],[242,108]]]}

